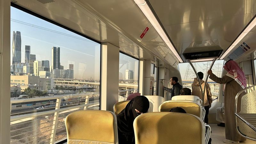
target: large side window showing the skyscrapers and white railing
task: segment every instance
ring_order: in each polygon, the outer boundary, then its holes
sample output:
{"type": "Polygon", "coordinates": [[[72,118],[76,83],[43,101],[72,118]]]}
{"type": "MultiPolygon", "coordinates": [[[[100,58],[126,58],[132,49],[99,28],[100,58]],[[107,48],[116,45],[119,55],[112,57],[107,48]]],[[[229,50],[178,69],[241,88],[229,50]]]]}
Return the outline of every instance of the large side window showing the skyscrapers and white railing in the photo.
{"type": "Polygon", "coordinates": [[[10,143],[67,139],[68,114],[100,108],[100,43],[14,7],[11,36],[10,143]]]}

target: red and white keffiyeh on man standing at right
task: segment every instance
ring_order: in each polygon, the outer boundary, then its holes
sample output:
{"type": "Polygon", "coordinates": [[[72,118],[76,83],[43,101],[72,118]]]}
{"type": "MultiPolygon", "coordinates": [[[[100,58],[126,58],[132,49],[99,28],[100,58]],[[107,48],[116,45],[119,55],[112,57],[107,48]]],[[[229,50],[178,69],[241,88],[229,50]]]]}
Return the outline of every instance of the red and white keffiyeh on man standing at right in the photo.
{"type": "Polygon", "coordinates": [[[244,72],[235,61],[228,61],[223,68],[228,71],[227,76],[235,79],[235,81],[240,84],[243,89],[246,88],[246,78],[244,72]]]}

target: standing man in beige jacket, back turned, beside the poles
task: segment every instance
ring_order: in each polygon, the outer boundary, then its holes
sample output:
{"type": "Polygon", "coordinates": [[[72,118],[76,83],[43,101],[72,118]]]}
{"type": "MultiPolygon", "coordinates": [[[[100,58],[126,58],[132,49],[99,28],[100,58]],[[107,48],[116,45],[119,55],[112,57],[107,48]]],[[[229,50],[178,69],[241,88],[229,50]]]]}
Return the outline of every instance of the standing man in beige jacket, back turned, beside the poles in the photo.
{"type": "MultiPolygon", "coordinates": [[[[200,83],[202,85],[202,88],[204,89],[205,82],[203,81],[204,74],[202,72],[198,72],[197,75],[199,76],[200,83]]],[[[194,82],[191,85],[192,86],[192,95],[198,96],[201,100],[202,98],[202,92],[200,89],[200,85],[198,83],[197,78],[194,78],[194,82]]],[[[208,113],[209,108],[211,108],[212,105],[212,93],[209,84],[206,85],[206,90],[204,93],[204,109],[205,109],[205,116],[204,116],[204,122],[208,124],[208,113]]]]}

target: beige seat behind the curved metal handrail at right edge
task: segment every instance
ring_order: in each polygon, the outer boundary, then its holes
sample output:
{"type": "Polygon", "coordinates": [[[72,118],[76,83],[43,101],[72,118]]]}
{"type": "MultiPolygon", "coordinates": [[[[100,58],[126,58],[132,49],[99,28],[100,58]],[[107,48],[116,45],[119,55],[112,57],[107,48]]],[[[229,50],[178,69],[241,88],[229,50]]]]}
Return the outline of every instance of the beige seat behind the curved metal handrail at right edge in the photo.
{"type": "MultiPolygon", "coordinates": [[[[249,92],[242,97],[241,112],[239,112],[238,115],[256,127],[256,120],[255,118],[252,118],[256,117],[256,91],[249,92]]],[[[239,125],[237,128],[240,133],[256,140],[256,132],[252,128],[242,122],[239,118],[237,118],[237,123],[239,125]]]]}

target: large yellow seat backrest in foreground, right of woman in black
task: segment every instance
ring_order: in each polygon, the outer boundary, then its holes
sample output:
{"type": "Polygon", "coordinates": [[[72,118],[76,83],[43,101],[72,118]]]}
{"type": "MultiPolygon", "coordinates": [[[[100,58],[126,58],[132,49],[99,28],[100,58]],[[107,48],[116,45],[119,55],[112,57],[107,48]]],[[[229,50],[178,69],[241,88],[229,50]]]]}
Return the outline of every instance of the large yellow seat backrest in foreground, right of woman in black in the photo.
{"type": "Polygon", "coordinates": [[[204,144],[204,122],[190,114],[145,113],[135,118],[133,128],[136,144],[204,144]]]}

